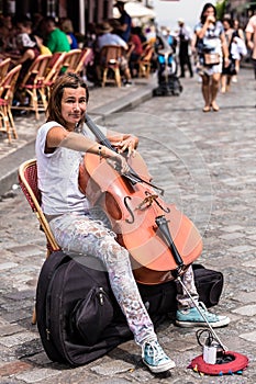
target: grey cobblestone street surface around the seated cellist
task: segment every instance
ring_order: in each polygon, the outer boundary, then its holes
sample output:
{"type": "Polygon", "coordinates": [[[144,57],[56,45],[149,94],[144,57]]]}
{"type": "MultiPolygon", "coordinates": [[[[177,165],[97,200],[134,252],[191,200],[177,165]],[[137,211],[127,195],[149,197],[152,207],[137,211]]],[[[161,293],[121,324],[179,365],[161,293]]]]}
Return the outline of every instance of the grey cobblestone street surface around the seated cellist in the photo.
{"type": "Polygon", "coordinates": [[[31,325],[36,279],[45,257],[45,239],[21,191],[0,202],[0,382],[1,383],[256,383],[256,167],[255,81],[240,74],[220,112],[202,113],[200,83],[183,79],[180,97],[153,98],[130,112],[108,116],[104,124],[133,132],[140,151],[166,200],[196,223],[204,249],[198,261],[224,273],[214,312],[231,317],[216,330],[232,351],[249,358],[242,375],[200,376],[187,366],[201,353],[194,329],[166,321],[162,345],[176,361],[169,375],[154,376],[141,362],[133,341],[77,369],[52,363],[31,325]]]}

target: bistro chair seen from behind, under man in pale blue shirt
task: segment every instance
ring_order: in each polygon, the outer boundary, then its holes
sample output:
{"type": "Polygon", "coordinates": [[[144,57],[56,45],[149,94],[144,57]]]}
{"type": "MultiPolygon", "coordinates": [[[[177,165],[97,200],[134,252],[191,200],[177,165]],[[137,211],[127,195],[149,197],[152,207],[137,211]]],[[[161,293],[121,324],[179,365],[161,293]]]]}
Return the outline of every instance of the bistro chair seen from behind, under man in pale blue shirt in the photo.
{"type": "Polygon", "coordinates": [[[114,82],[121,87],[120,63],[123,53],[121,45],[105,45],[100,52],[100,70],[102,72],[102,87],[113,81],[109,75],[114,75],[114,82]]]}

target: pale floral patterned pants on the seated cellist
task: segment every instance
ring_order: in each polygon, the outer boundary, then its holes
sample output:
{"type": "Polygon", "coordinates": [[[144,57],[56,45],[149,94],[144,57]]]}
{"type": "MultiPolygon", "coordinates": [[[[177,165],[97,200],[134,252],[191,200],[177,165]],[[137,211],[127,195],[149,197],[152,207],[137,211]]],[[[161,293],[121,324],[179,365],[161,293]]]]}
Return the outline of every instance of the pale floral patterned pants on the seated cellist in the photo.
{"type": "MultiPolygon", "coordinates": [[[[154,325],[141,298],[133,276],[130,256],[115,241],[115,235],[108,228],[104,213],[91,210],[87,215],[64,214],[53,218],[49,226],[56,241],[68,255],[90,255],[100,259],[109,273],[113,294],[124,313],[134,340],[142,346],[148,338],[156,338],[154,325]]],[[[192,270],[189,268],[182,281],[197,300],[192,270]]],[[[178,284],[178,305],[191,306],[190,298],[178,284]]]]}

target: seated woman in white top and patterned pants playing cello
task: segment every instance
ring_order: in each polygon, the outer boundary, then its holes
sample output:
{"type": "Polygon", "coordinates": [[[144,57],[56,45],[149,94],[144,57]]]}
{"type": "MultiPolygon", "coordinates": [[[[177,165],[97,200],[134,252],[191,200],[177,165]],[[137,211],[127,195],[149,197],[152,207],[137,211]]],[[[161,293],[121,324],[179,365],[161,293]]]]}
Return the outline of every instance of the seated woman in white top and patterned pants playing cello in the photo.
{"type": "MultiPolygon", "coordinates": [[[[35,146],[42,208],[63,251],[67,255],[92,256],[103,263],[116,302],[135,342],[142,348],[144,364],[153,373],[165,372],[176,364],[157,340],[133,275],[129,251],[116,242],[116,235],[109,227],[107,215],[91,206],[78,183],[80,163],[84,163],[86,153],[108,159],[111,167],[125,174],[129,166],[122,153],[127,149],[127,156],[133,156],[138,138],[101,127],[102,134],[118,151],[101,145],[85,128],[88,99],[87,84],[75,74],[66,72],[53,86],[47,120],[37,132],[35,146]]],[[[191,267],[182,275],[182,281],[198,302],[191,267]]],[[[178,289],[177,300],[177,325],[205,325],[189,295],[182,292],[182,285],[178,289]]],[[[202,310],[212,327],[230,323],[226,316],[214,315],[205,307],[202,310]]]]}

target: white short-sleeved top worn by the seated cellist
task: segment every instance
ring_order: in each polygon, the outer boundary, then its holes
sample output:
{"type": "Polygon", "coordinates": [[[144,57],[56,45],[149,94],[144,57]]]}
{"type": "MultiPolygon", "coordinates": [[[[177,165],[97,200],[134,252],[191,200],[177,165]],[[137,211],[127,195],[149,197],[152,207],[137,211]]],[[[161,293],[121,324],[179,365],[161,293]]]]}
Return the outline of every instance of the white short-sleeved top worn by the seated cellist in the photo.
{"type": "MultiPolygon", "coordinates": [[[[46,136],[54,126],[63,127],[56,122],[45,123],[38,129],[35,143],[42,210],[47,215],[68,212],[85,214],[90,204],[78,188],[79,165],[85,153],[60,147],[56,148],[53,154],[45,154],[46,136]]],[[[102,127],[101,129],[105,131],[102,127]]],[[[84,126],[82,134],[94,139],[93,134],[86,126],[84,126]]]]}

